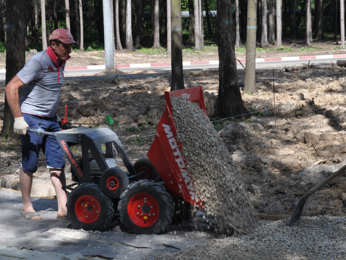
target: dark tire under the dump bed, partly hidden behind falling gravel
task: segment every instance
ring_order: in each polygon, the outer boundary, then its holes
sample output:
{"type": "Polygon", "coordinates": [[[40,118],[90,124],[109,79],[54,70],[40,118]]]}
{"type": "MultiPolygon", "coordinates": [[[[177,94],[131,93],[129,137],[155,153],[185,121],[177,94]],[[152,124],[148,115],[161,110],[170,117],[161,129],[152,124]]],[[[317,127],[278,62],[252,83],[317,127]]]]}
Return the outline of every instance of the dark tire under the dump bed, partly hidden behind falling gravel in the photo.
{"type": "Polygon", "coordinates": [[[191,203],[185,201],[179,196],[172,198],[174,206],[173,219],[177,222],[188,221],[194,218],[197,214],[198,208],[191,203]]]}

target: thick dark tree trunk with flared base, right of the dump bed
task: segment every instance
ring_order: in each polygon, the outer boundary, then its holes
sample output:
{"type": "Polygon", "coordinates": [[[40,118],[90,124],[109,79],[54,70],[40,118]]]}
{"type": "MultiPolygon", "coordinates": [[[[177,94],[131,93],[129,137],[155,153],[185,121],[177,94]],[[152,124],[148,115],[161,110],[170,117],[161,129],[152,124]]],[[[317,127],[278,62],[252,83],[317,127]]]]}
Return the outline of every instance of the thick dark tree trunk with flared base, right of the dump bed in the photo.
{"type": "MultiPolygon", "coordinates": [[[[253,2],[253,0],[249,0],[250,2],[253,2]]],[[[219,91],[213,117],[236,117],[246,114],[246,108],[238,85],[237,63],[234,51],[234,24],[229,22],[233,21],[232,4],[228,0],[217,0],[216,4],[218,10],[219,91]]],[[[255,17],[253,18],[255,21],[254,26],[256,26],[256,7],[254,10],[255,17]]],[[[254,39],[256,41],[256,28],[252,31],[255,33],[254,39]]]]}

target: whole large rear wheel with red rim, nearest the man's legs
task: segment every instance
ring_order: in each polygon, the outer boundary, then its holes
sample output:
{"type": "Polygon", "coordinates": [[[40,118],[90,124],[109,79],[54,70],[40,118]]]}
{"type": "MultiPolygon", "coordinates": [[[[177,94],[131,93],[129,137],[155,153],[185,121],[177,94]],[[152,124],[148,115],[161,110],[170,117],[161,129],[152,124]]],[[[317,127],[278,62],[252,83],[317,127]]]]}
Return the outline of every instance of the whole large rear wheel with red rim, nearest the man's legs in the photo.
{"type": "Polygon", "coordinates": [[[67,216],[77,229],[103,230],[114,214],[113,202],[95,183],[83,183],[69,195],[67,216]]]}

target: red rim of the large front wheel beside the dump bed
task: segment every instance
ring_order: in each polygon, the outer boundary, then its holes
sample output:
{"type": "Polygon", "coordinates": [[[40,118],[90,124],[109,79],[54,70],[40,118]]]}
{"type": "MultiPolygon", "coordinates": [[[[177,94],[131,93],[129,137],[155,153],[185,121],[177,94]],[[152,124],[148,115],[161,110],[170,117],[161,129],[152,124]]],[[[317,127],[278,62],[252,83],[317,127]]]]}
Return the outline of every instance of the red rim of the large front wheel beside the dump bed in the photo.
{"type": "Polygon", "coordinates": [[[153,196],[145,192],[140,192],[132,196],[129,200],[127,213],[132,222],[137,226],[149,227],[156,223],[160,216],[160,208],[153,196]]]}

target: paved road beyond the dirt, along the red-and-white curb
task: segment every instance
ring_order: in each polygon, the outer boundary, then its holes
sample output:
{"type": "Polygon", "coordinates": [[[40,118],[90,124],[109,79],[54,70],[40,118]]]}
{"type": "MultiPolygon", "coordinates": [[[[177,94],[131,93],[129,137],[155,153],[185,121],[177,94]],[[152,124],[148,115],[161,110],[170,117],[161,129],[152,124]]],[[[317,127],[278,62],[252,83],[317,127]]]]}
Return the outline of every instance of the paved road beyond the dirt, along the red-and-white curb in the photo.
{"type": "MultiPolygon", "coordinates": [[[[330,62],[334,62],[336,64],[337,58],[334,59],[312,59],[310,60],[310,64],[314,64],[315,66],[328,66],[330,62]]],[[[266,62],[256,62],[256,69],[282,69],[284,66],[303,66],[307,64],[309,60],[293,60],[293,61],[266,61],[266,62]]],[[[243,63],[245,66],[245,63],[243,63]]],[[[183,70],[210,70],[219,68],[219,64],[208,64],[208,65],[189,65],[183,66],[183,70]]],[[[237,63],[238,70],[244,70],[242,65],[237,63]]],[[[125,74],[118,75],[118,78],[143,78],[143,77],[160,77],[163,74],[170,73],[171,67],[147,67],[147,68],[123,68],[121,69],[124,72],[131,72],[135,70],[151,70],[156,73],[141,73],[141,74],[125,74]]],[[[65,71],[65,80],[75,80],[75,79],[106,79],[106,78],[114,78],[114,75],[110,76],[93,76],[95,73],[99,73],[103,71],[103,69],[89,69],[89,70],[67,70],[65,71]]],[[[0,69],[0,83],[5,82],[5,73],[6,69],[0,69]]]]}

